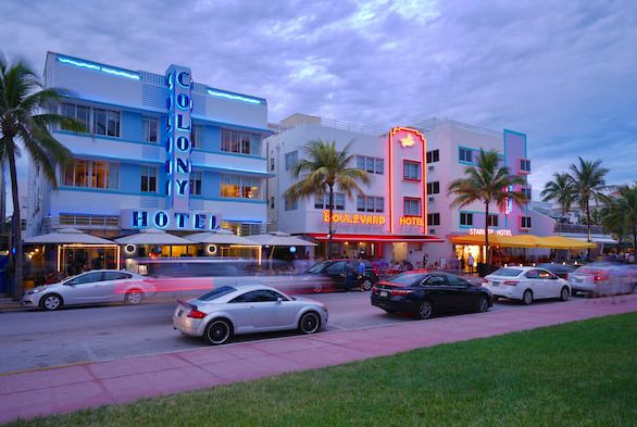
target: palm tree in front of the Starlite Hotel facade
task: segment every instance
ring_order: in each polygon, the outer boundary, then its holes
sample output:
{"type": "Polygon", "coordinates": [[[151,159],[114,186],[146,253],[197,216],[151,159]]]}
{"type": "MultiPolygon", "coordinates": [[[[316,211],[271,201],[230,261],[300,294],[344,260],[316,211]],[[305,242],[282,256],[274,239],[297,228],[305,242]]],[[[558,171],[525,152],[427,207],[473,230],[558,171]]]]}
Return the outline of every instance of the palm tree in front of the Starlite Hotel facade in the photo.
{"type": "Polygon", "coordinates": [[[485,204],[485,253],[486,263],[490,264],[489,254],[489,206],[496,203],[502,206],[507,200],[521,205],[526,202],[526,196],[521,191],[509,191],[510,186],[524,185],[525,179],[517,175],[510,175],[507,166],[500,165],[500,159],[495,150],[484,151],[477,158],[475,166],[464,169],[465,178],[453,180],[448,192],[455,194],[451,203],[463,208],[473,202],[485,204]]]}

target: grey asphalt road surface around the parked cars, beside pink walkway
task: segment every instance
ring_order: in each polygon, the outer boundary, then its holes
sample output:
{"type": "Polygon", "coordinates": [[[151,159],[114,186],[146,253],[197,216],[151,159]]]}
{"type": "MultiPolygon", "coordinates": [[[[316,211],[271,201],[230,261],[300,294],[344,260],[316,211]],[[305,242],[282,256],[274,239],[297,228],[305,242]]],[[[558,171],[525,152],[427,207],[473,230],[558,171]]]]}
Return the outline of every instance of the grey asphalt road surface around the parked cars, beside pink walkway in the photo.
{"type": "MultiPolygon", "coordinates": [[[[328,331],[413,322],[410,317],[389,315],[373,307],[369,292],[322,293],[311,298],[327,304],[328,331]]],[[[174,302],[148,301],[138,306],[0,313],[0,374],[204,347],[201,340],[173,330],[174,307],[174,302]]],[[[491,310],[525,307],[504,302],[496,303],[491,310]]],[[[259,334],[237,339],[273,339],[290,334],[293,332],[259,334]]]]}

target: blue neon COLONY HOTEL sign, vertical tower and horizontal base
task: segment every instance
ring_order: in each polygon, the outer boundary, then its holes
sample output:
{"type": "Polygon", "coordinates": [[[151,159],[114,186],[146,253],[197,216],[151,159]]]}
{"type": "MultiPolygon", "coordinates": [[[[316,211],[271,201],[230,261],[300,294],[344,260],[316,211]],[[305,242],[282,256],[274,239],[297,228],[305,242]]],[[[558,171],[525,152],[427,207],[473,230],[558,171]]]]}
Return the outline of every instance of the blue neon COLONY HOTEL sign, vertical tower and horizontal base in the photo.
{"type": "Polygon", "coordinates": [[[165,190],[164,210],[123,210],[123,228],[162,228],[180,230],[211,230],[221,225],[218,215],[188,210],[190,198],[190,140],[192,113],[192,79],[190,68],[171,65],[166,71],[165,190]]]}

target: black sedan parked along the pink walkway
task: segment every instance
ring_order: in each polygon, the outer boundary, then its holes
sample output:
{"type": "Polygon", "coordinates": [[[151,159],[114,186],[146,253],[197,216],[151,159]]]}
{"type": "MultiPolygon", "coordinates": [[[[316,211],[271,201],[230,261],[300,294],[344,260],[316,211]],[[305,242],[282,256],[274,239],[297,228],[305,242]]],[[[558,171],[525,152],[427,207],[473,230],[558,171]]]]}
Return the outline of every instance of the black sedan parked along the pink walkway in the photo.
{"type": "Polygon", "coordinates": [[[374,286],[372,305],[429,318],[442,312],[486,312],[494,299],[487,289],[452,274],[408,272],[374,286]]]}

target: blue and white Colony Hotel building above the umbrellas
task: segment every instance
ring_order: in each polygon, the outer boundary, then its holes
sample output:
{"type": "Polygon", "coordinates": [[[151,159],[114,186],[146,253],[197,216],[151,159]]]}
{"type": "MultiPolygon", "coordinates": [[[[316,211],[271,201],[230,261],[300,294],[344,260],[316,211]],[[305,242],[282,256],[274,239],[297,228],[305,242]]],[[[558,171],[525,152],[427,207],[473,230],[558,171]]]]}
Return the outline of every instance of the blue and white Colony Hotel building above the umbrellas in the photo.
{"type": "Polygon", "coordinates": [[[30,167],[28,236],[265,230],[265,99],[197,83],[186,66],[155,74],[53,52],[45,81],[68,90],[58,112],[88,131],[53,130],[73,153],[57,189],[30,167]]]}

